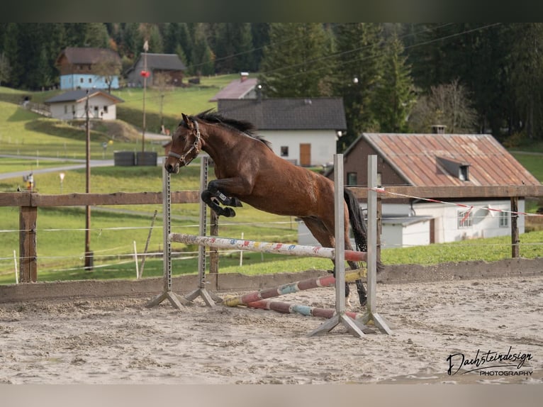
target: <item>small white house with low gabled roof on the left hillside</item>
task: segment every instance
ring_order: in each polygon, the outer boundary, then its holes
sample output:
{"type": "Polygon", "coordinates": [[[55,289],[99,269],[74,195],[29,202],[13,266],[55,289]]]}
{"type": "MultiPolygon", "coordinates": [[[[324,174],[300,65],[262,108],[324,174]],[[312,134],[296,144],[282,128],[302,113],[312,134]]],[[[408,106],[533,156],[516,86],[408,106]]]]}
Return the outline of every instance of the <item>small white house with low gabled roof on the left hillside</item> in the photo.
{"type": "Polygon", "coordinates": [[[50,108],[51,117],[61,120],[86,118],[87,92],[89,118],[103,120],[117,118],[116,104],[123,102],[123,99],[99,89],[76,89],[47,99],[45,104],[50,108]]]}

